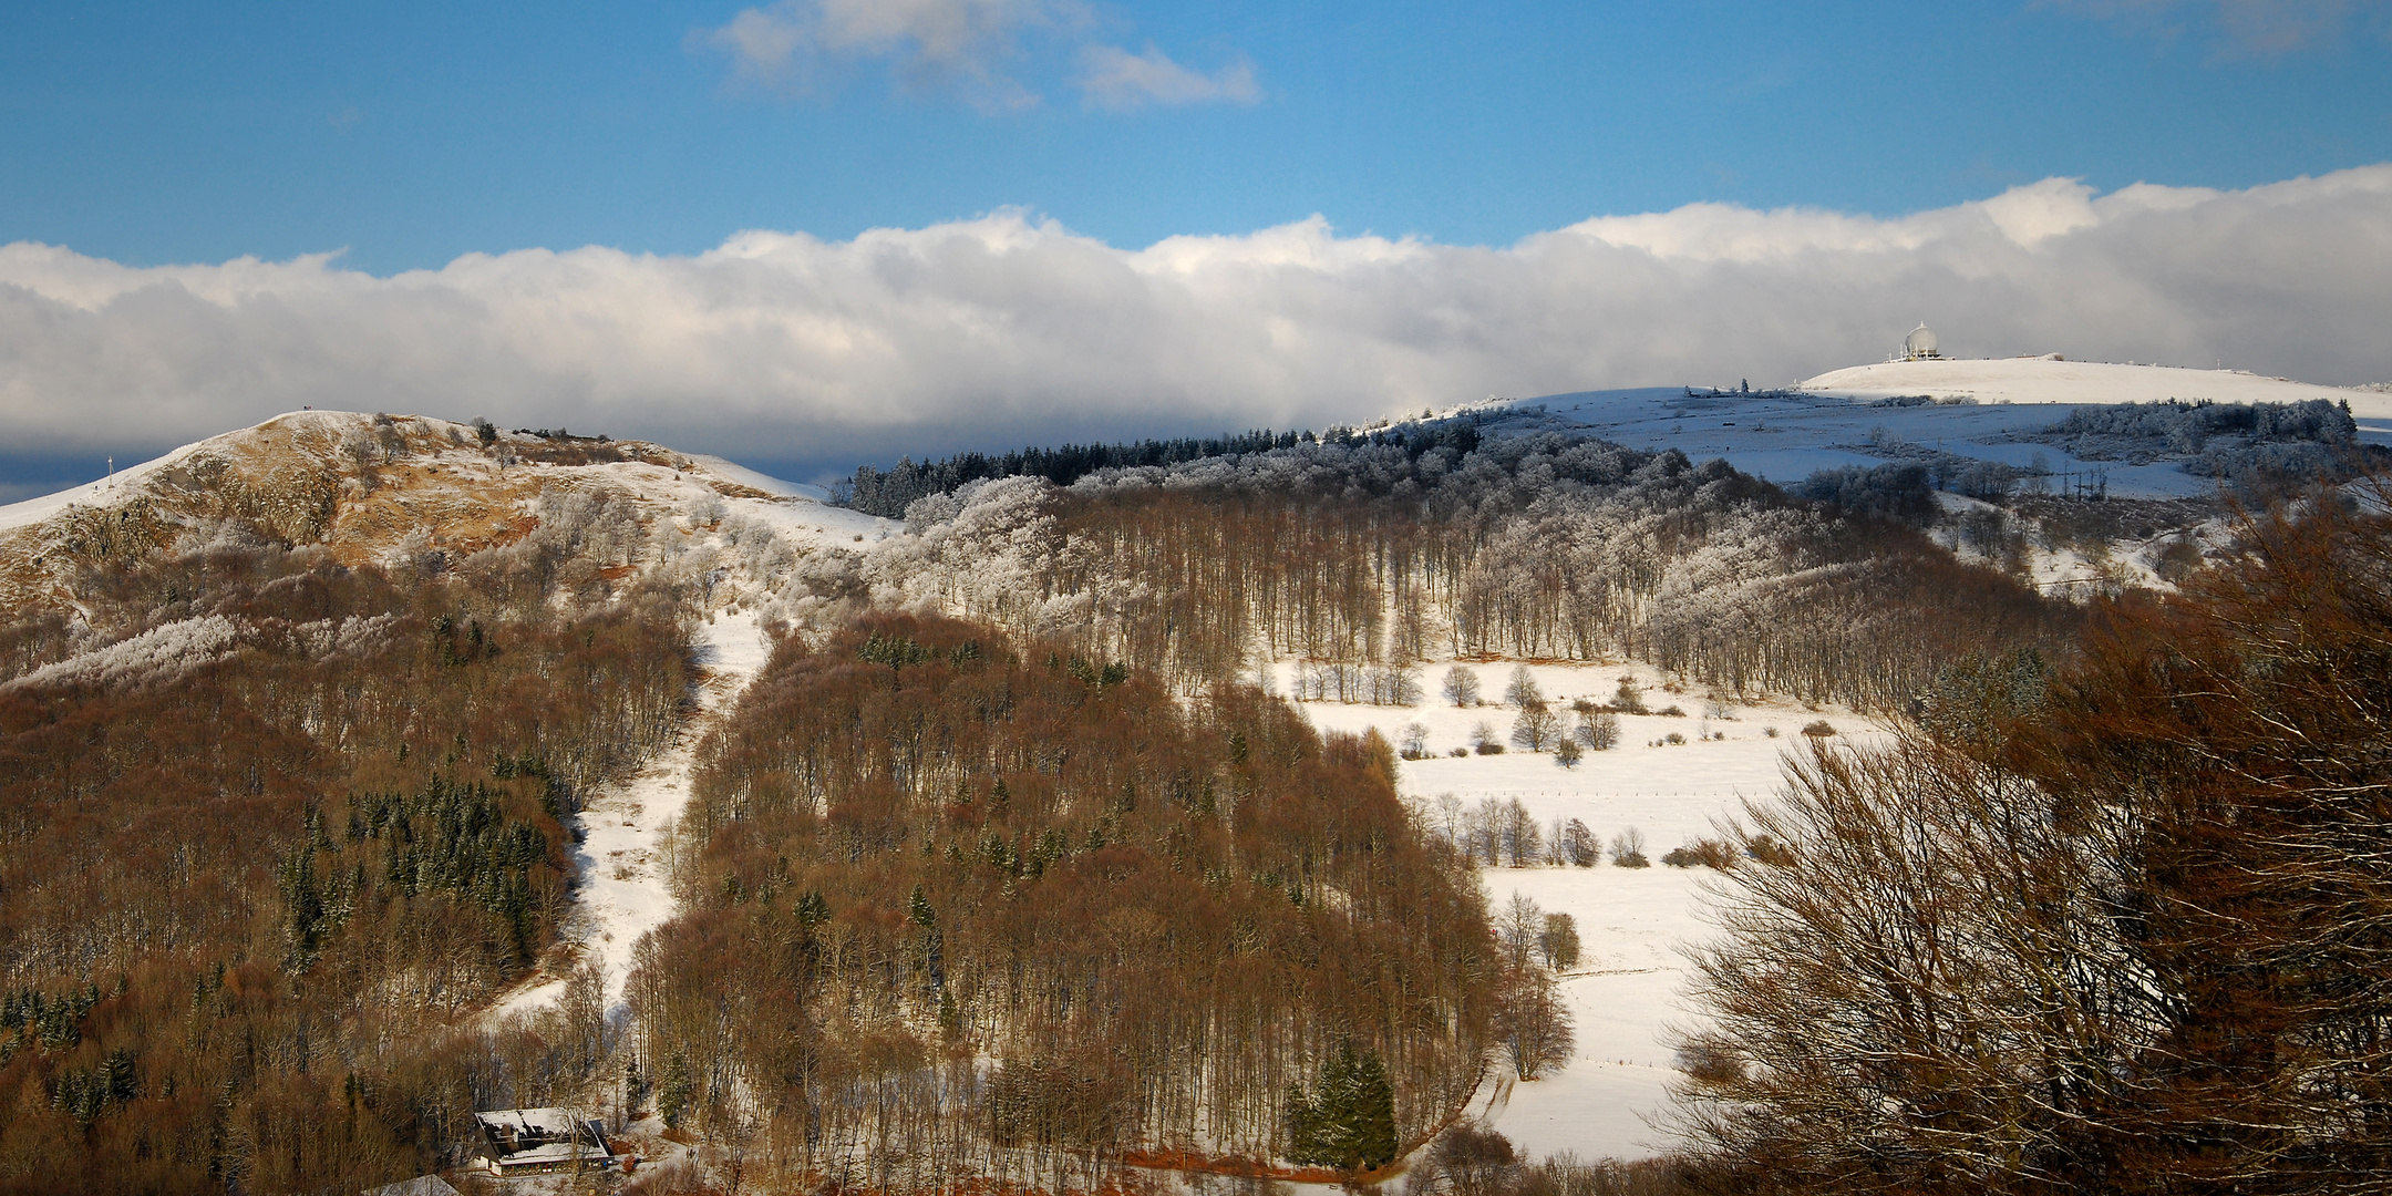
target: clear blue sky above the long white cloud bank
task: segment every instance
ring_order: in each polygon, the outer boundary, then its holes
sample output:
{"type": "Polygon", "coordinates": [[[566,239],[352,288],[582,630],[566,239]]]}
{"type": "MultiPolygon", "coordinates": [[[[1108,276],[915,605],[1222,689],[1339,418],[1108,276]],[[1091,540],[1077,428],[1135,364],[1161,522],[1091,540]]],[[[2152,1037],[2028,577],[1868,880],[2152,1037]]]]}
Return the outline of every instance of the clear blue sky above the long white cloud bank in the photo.
{"type": "Polygon", "coordinates": [[[10,5],[0,242],[347,249],[388,275],[1021,206],[1115,246],[1311,213],[1509,244],[1691,201],[1906,213],[2055,175],[2234,189],[2392,160],[2366,0],[887,7],[988,36],[758,77],[710,33],[739,2],[10,5]],[[1251,86],[1091,105],[1093,48],[1251,86]]]}

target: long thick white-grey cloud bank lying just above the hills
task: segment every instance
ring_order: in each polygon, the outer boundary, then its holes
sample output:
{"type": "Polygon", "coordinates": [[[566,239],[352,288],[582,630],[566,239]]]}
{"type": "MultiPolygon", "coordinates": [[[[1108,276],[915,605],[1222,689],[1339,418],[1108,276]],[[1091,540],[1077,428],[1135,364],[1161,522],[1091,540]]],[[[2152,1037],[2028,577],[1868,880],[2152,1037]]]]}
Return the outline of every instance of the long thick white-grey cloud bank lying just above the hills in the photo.
{"type": "Polygon", "coordinates": [[[1495,395],[1787,383],[1947,352],[2392,378],[2392,165],[2251,191],[2045,179],[1904,218],[1694,203],[1507,249],[1320,218],[1112,249],[1024,213],[698,256],[127,268],[0,246],[0,440],[158,450],[301,404],[768,462],[1325,426],[1495,395]]]}

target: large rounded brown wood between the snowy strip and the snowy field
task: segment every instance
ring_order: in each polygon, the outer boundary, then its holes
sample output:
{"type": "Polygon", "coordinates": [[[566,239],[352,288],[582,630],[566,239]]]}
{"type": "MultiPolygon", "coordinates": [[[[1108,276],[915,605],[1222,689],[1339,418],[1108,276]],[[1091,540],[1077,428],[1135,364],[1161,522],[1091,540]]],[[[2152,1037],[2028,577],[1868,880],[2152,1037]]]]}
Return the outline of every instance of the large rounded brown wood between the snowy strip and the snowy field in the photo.
{"type": "Polygon", "coordinates": [[[1495,1048],[1469,861],[1409,823],[1383,742],[1251,689],[1182,703],[871,617],[782,643],[684,835],[691,911],[629,983],[641,1067],[787,1184],[1088,1189],[1292,1131],[1383,1163],[1495,1048]]]}

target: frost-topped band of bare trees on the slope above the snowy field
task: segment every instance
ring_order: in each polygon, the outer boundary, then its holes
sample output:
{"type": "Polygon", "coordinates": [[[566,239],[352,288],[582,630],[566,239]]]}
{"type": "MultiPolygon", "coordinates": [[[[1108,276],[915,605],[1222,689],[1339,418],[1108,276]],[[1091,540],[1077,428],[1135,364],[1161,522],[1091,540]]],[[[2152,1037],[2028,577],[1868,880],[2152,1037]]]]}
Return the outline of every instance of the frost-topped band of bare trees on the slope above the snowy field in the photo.
{"type": "Polygon", "coordinates": [[[878,598],[1064,636],[1191,689],[1263,655],[1634,655],[1885,708],[1954,655],[2048,641],[2071,617],[1899,521],[1555,433],[976,483],[911,519],[919,541],[868,565],[878,598]]]}

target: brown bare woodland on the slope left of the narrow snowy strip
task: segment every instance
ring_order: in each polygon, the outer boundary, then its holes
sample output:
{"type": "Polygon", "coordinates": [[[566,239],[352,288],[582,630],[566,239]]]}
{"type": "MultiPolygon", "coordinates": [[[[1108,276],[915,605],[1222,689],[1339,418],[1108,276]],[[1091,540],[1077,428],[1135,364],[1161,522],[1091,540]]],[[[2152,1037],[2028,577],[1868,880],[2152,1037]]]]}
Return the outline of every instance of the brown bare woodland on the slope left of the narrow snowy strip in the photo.
{"type": "Polygon", "coordinates": [[[555,1050],[452,1026],[550,947],[560,818],[687,689],[679,603],[574,600],[576,553],[220,536],[0,639],[0,1191],[356,1191],[538,1096],[555,1050]]]}

